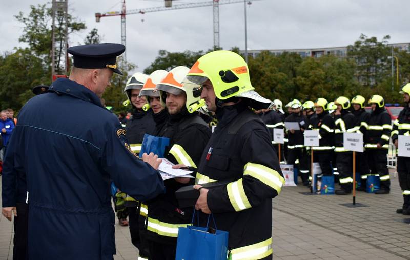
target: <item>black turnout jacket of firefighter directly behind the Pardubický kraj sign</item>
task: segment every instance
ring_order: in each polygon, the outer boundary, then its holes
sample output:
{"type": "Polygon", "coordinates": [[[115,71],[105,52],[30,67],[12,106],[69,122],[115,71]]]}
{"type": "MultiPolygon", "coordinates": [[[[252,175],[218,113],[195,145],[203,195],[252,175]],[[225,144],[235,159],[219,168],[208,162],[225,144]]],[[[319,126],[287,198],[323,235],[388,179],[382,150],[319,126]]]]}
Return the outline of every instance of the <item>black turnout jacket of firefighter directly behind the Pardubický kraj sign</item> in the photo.
{"type": "Polygon", "coordinates": [[[335,152],[347,152],[343,147],[343,134],[345,132],[354,132],[355,116],[347,111],[342,110],[340,115],[335,116],[335,152]]]}

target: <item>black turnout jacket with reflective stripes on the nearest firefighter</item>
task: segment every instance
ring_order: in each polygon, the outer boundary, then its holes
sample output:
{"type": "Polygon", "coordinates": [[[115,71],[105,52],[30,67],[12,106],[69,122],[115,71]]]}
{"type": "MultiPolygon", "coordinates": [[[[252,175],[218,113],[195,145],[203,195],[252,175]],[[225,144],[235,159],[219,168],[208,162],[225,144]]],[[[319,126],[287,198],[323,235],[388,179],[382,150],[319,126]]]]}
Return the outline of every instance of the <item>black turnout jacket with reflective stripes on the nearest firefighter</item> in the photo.
{"type": "Polygon", "coordinates": [[[285,180],[268,129],[242,102],[216,115],[195,182],[231,181],[210,189],[207,202],[217,229],[229,232],[232,259],[271,259],[272,198],[285,180]]]}

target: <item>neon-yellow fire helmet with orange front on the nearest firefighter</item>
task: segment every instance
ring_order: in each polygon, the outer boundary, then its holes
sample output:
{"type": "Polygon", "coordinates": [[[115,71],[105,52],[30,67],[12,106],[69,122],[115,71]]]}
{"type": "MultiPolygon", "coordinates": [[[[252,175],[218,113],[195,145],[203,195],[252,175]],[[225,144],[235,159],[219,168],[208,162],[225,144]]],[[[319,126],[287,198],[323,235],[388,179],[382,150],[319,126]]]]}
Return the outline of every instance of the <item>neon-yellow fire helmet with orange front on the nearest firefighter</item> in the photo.
{"type": "Polygon", "coordinates": [[[231,97],[251,99],[250,106],[268,108],[271,101],[260,96],[251,84],[248,65],[239,54],[232,51],[213,51],[200,57],[187,79],[202,85],[209,79],[219,100],[231,97]]]}

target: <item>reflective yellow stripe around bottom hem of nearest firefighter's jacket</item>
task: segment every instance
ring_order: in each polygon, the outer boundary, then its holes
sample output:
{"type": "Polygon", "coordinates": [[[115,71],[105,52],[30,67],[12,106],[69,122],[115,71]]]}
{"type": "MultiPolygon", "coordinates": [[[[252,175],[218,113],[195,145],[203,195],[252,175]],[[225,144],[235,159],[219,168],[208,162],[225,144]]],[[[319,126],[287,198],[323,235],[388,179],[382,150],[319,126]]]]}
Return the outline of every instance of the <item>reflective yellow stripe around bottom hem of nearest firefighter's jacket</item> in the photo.
{"type": "Polygon", "coordinates": [[[272,237],[245,247],[239,247],[231,250],[232,260],[257,260],[265,258],[273,253],[272,237]]]}

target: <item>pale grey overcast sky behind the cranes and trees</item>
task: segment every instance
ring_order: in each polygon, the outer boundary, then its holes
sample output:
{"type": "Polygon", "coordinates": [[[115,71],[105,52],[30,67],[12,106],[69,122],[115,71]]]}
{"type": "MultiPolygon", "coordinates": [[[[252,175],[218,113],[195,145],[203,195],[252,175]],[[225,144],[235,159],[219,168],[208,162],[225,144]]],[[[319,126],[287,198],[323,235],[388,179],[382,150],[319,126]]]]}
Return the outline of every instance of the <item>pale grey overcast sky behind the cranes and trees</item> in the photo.
{"type": "MultiPolygon", "coordinates": [[[[103,17],[95,22],[96,12],[120,11],[122,1],[68,0],[69,12],[87,25],[87,30],[70,35],[70,46],[83,43],[92,28],[103,42],[121,43],[120,17],[103,17]]],[[[207,0],[176,0],[195,3],[207,0]]],[[[0,0],[0,52],[18,43],[24,25],[13,15],[30,11],[40,0],[0,0]]],[[[127,9],[163,6],[162,0],[128,0],[127,9]]],[[[244,49],[243,3],[221,5],[220,46],[244,49]]],[[[410,42],[408,0],[259,0],[248,6],[248,49],[295,49],[339,47],[353,44],[360,34],[391,36],[391,43],[410,42]]],[[[212,7],[132,14],[127,16],[127,58],[143,70],[158,51],[197,51],[213,46],[212,7]]]]}

